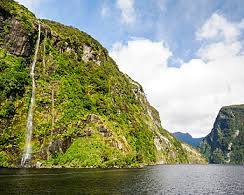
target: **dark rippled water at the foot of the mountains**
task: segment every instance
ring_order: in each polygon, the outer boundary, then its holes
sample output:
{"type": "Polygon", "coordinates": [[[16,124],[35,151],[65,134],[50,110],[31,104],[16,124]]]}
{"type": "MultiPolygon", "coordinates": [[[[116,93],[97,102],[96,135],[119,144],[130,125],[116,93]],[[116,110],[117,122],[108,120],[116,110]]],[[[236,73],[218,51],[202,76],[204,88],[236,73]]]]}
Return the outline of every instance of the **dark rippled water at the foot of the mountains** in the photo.
{"type": "Polygon", "coordinates": [[[0,194],[244,194],[244,166],[0,169],[0,194]]]}

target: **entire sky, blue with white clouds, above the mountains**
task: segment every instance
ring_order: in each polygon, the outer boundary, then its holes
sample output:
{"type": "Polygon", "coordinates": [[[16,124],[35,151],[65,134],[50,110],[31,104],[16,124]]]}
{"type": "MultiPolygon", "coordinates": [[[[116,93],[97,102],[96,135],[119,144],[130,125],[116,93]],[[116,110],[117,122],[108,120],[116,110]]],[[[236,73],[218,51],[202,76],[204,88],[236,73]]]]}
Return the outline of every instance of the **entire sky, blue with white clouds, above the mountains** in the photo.
{"type": "Polygon", "coordinates": [[[18,0],[92,35],[138,81],[170,132],[207,135],[244,103],[243,0],[18,0]]]}

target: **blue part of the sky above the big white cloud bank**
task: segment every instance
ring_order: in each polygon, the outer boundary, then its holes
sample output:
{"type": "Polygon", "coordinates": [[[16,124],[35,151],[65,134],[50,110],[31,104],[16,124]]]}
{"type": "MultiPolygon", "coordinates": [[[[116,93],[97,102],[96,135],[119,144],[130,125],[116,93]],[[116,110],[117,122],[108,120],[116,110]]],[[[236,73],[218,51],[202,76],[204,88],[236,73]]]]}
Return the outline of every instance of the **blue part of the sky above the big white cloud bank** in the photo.
{"type": "MultiPolygon", "coordinates": [[[[118,41],[144,37],[164,40],[175,56],[189,60],[200,43],[195,31],[214,12],[231,21],[244,16],[242,0],[135,0],[135,21],[124,24],[116,0],[42,0],[31,9],[38,17],[78,27],[107,49],[118,41]],[[102,10],[106,14],[102,16],[102,10]]],[[[179,66],[174,61],[171,65],[179,66]]]]}

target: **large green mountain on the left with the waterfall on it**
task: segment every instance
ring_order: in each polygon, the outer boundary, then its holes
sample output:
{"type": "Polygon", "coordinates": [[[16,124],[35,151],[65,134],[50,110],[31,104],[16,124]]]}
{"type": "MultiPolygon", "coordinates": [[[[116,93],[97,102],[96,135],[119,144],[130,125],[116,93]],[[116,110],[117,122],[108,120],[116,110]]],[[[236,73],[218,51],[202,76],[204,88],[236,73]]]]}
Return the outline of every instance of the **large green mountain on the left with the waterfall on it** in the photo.
{"type": "Polygon", "coordinates": [[[0,2],[0,89],[1,167],[205,163],[100,43],[11,0],[0,2]]]}

